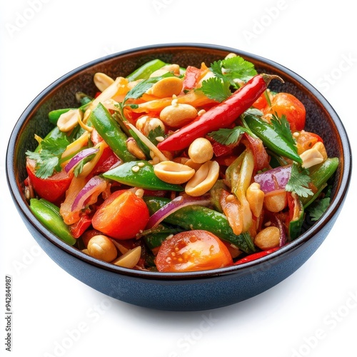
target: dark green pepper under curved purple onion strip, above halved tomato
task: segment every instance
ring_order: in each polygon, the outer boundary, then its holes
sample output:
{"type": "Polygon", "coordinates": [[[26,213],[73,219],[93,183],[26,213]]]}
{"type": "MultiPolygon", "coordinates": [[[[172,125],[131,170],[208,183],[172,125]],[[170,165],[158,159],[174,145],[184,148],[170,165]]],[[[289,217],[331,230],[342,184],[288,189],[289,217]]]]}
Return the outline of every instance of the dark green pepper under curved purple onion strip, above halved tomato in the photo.
{"type": "MultiPolygon", "coordinates": [[[[153,214],[165,206],[166,203],[169,203],[170,200],[164,197],[144,196],[144,201],[149,208],[150,214],[153,214]]],[[[254,253],[256,251],[249,233],[242,233],[237,236],[229,226],[226,216],[205,206],[191,205],[179,208],[167,216],[164,221],[180,226],[187,231],[191,231],[192,229],[209,231],[218,236],[218,238],[223,239],[223,241],[228,241],[246,253],[254,253]]]]}

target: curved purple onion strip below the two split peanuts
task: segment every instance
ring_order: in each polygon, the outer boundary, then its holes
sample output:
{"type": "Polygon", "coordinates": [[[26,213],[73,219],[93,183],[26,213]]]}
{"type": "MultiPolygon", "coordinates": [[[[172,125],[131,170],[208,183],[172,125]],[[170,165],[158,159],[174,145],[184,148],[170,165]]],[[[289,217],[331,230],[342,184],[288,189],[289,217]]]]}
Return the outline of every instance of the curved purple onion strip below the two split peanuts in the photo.
{"type": "Polygon", "coordinates": [[[177,196],[169,203],[166,203],[164,207],[161,207],[156,211],[150,218],[149,222],[146,224],[146,229],[156,227],[161,221],[169,216],[171,213],[176,212],[178,209],[190,206],[193,204],[199,204],[201,206],[208,206],[211,203],[209,196],[192,197],[192,196],[177,196]]]}

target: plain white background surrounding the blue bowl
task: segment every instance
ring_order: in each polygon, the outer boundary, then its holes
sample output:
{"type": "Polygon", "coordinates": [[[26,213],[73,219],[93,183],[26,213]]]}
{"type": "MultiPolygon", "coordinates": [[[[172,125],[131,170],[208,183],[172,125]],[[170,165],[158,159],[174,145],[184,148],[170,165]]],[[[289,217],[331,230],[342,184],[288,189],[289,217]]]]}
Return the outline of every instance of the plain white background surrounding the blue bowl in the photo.
{"type": "Polygon", "coordinates": [[[6,274],[12,277],[14,312],[9,356],[357,356],[353,184],[326,241],[286,281],[226,308],[169,313],[116,301],[56,266],[19,218],[4,170],[11,129],[51,82],[106,54],[168,42],[231,46],[292,69],[330,101],[356,152],[357,30],[351,4],[1,1],[1,356],[6,274]]]}

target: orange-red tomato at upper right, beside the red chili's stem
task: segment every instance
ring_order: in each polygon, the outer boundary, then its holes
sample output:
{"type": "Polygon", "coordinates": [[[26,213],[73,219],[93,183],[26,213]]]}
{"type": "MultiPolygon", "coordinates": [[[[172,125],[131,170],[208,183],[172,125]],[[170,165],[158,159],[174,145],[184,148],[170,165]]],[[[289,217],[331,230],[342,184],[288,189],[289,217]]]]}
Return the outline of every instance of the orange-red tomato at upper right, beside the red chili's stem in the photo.
{"type": "Polygon", "coordinates": [[[301,131],[305,127],[305,106],[296,96],[289,93],[278,93],[271,99],[271,107],[264,110],[264,114],[278,114],[286,116],[292,132],[301,131]]]}

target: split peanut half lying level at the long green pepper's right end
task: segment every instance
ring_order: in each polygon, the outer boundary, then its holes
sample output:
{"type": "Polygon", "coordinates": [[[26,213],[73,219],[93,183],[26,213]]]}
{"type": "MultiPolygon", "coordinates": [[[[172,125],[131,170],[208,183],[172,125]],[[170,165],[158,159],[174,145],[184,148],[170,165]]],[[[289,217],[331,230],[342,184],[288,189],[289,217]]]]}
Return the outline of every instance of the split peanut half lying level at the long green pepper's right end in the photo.
{"type": "Polygon", "coordinates": [[[154,166],[154,173],[162,181],[179,185],[187,182],[195,174],[195,171],[189,166],[174,161],[161,161],[154,166]]]}

